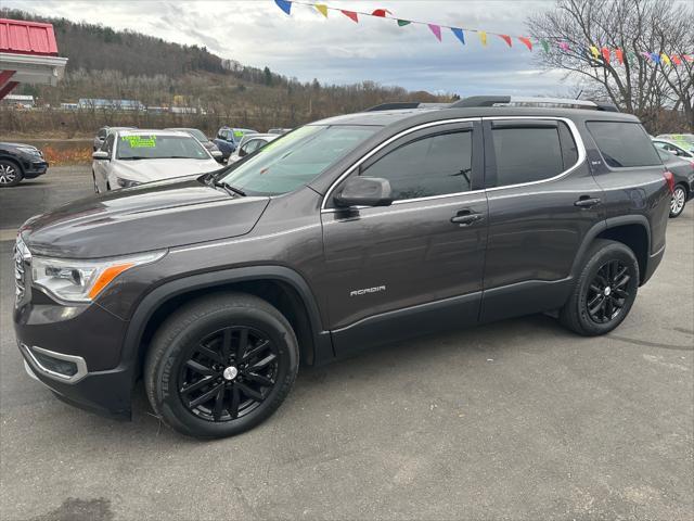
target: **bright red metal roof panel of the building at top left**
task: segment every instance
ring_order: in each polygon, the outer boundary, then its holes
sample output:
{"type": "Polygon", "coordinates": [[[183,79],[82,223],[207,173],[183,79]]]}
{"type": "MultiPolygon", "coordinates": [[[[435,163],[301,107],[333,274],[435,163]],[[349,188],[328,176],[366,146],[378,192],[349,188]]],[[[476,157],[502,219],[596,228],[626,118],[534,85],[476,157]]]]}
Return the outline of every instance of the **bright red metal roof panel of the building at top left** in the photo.
{"type": "Polygon", "coordinates": [[[0,18],[0,52],[57,56],[51,24],[0,18]]]}

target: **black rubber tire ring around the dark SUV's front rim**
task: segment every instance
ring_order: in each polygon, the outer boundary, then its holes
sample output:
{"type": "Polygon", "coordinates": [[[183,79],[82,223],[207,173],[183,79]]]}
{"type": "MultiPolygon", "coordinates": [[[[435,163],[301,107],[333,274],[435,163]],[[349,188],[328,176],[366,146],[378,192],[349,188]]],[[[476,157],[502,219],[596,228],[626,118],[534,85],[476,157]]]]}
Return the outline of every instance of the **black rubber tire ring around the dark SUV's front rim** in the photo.
{"type": "Polygon", "coordinates": [[[230,307],[201,317],[185,327],[164,351],[154,378],[156,409],[175,429],[196,437],[226,437],[252,429],[269,417],[288,393],[298,370],[298,348],[288,325],[250,307],[230,307]],[[230,326],[247,326],[261,331],[278,347],[277,384],[266,399],[247,415],[228,422],[214,423],[195,417],[183,405],[178,393],[180,365],[185,361],[193,343],[230,326]]]}

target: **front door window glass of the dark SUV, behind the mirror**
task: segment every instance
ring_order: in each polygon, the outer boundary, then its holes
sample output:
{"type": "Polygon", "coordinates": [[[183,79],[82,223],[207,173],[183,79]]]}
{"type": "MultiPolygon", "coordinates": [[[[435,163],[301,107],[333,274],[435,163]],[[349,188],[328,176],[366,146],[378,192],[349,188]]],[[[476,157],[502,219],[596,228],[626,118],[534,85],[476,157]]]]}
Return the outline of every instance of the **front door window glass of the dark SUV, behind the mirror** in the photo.
{"type": "Polygon", "coordinates": [[[472,130],[410,141],[362,171],[387,179],[395,201],[470,191],[472,130]]]}

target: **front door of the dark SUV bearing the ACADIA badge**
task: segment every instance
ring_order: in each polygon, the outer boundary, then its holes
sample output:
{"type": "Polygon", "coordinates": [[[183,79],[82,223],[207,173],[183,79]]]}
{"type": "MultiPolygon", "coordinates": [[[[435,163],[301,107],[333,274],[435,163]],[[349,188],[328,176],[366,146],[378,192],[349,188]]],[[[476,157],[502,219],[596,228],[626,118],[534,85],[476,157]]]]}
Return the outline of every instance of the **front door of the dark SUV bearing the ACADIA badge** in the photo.
{"type": "Polygon", "coordinates": [[[477,321],[483,161],[478,122],[441,123],[402,136],[351,174],[387,179],[390,206],[342,209],[330,199],[342,185],[329,192],[321,218],[337,355],[477,321]]]}

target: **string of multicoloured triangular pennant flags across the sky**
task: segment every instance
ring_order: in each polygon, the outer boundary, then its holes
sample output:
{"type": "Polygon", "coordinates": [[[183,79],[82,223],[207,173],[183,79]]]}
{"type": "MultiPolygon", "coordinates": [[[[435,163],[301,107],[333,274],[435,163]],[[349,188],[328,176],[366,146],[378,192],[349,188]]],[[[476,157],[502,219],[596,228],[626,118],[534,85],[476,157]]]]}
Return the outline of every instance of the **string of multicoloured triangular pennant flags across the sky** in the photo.
{"type": "MultiPolygon", "coordinates": [[[[532,52],[532,48],[534,48],[532,40],[527,36],[511,36],[511,35],[503,35],[501,33],[489,33],[487,30],[481,30],[481,29],[454,27],[454,26],[444,25],[444,24],[434,24],[430,22],[398,18],[393,16],[393,13],[387,9],[375,9],[371,12],[362,12],[362,11],[351,11],[346,9],[332,8],[330,5],[326,5],[325,3],[313,3],[313,2],[306,2],[306,1],[298,1],[298,0],[274,0],[274,3],[286,15],[292,14],[293,4],[298,4],[298,5],[307,5],[307,7],[313,8],[316,11],[322,14],[325,18],[327,18],[329,11],[339,11],[342,14],[344,14],[345,16],[347,16],[348,18],[350,18],[352,22],[357,24],[359,23],[359,15],[362,15],[362,16],[394,20],[396,21],[399,27],[404,27],[410,24],[426,25],[438,41],[442,41],[441,28],[447,28],[451,30],[453,36],[463,46],[466,45],[465,31],[467,31],[467,33],[476,33],[479,37],[479,42],[481,43],[483,47],[487,47],[487,43],[488,43],[487,35],[493,35],[493,36],[498,36],[503,41],[505,41],[510,48],[513,47],[514,38],[520,41],[528,49],[528,51],[532,52]]],[[[556,46],[563,52],[571,52],[571,47],[567,41],[563,41],[560,38],[549,38],[549,39],[552,41],[548,41],[547,39],[536,40],[542,47],[542,50],[545,53],[550,53],[553,46],[556,46]]],[[[613,59],[613,54],[616,62],[619,63],[620,65],[624,65],[625,63],[633,64],[634,61],[639,60],[637,54],[632,51],[625,52],[622,49],[611,49],[608,47],[599,48],[595,45],[591,45],[590,47],[574,45],[573,50],[576,54],[580,56],[590,56],[593,60],[597,62],[603,62],[605,64],[611,63],[613,59]]],[[[644,52],[641,52],[639,55],[643,56],[643,59],[645,60],[650,60],[654,62],[655,64],[660,64],[661,66],[663,64],[667,64],[668,66],[679,66],[679,65],[682,65],[684,62],[690,62],[690,63],[694,62],[694,55],[689,53],[687,54],[683,54],[683,53],[667,54],[665,52],[644,51],[644,52]]]]}

